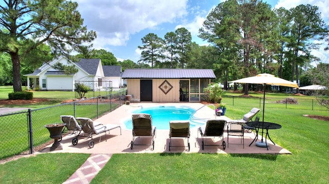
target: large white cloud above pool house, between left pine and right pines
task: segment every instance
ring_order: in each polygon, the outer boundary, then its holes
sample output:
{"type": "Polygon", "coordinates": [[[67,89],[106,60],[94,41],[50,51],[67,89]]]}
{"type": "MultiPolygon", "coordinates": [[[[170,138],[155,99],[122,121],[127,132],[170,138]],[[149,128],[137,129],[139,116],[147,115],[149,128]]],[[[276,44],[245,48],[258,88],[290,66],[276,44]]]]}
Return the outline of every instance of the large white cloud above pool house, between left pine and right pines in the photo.
{"type": "Polygon", "coordinates": [[[88,30],[97,31],[94,45],[122,46],[143,29],[172,23],[187,14],[187,0],[77,0],[88,30]]]}

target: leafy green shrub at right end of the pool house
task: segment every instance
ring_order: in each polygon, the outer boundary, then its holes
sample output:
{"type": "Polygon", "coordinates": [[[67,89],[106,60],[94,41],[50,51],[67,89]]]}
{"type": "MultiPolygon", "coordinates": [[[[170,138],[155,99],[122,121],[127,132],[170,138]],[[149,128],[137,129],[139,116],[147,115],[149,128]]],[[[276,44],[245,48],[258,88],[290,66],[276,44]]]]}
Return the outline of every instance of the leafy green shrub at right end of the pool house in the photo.
{"type": "Polygon", "coordinates": [[[204,88],[205,99],[209,103],[221,103],[222,96],[226,93],[219,84],[210,83],[204,88]]]}

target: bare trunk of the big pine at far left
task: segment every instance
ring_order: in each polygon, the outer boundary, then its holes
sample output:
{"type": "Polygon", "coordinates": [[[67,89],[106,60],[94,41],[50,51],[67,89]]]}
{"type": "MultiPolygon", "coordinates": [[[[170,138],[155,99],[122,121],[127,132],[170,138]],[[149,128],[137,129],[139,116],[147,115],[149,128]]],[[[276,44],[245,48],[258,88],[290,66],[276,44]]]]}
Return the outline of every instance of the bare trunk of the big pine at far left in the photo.
{"type": "Polygon", "coordinates": [[[21,82],[21,61],[18,52],[10,53],[12,61],[12,86],[14,92],[22,91],[22,82],[21,82]]]}

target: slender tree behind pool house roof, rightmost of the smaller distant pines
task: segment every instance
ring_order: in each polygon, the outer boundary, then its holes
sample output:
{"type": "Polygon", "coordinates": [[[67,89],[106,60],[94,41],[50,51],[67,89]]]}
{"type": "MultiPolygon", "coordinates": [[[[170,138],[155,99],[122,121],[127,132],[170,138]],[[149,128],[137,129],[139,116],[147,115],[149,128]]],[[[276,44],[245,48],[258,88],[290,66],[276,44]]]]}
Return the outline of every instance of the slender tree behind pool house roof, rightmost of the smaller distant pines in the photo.
{"type": "Polygon", "coordinates": [[[191,50],[192,35],[191,32],[184,27],[176,29],[175,34],[175,45],[179,57],[179,64],[181,68],[184,68],[189,61],[187,53],[191,50]]]}

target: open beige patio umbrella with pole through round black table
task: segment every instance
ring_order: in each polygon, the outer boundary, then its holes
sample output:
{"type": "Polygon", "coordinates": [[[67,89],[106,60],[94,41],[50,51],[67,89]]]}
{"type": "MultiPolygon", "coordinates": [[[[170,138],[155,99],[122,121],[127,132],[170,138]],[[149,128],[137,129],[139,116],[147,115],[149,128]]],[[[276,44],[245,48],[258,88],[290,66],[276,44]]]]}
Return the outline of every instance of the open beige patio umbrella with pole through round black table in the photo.
{"type": "MultiPolygon", "coordinates": [[[[287,87],[298,87],[297,83],[287,81],[278,77],[275,77],[271,74],[268,73],[261,73],[257,76],[253,77],[247,77],[247,78],[242,78],[242,79],[237,79],[234,81],[230,81],[234,83],[247,83],[247,84],[263,84],[264,85],[264,97],[263,97],[263,122],[264,122],[264,109],[265,109],[265,87],[266,84],[268,85],[280,85],[280,86],[287,86],[287,87]]],[[[264,133],[264,128],[262,128],[262,141],[261,143],[258,143],[257,145],[266,147],[267,145],[265,142],[263,143],[263,133],[264,133]]]]}

